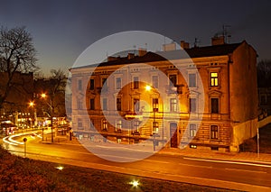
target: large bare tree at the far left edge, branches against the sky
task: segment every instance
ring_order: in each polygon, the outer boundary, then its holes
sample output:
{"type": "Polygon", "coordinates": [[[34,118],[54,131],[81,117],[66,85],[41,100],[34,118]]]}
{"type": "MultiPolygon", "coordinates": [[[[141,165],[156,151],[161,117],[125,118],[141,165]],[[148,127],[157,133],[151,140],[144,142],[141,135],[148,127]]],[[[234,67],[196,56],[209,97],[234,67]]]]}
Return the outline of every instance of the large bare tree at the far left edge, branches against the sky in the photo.
{"type": "Polygon", "coordinates": [[[5,81],[0,91],[0,108],[11,90],[15,72],[36,71],[36,61],[33,38],[26,32],[25,27],[0,29],[0,72],[7,74],[7,79],[0,78],[1,81],[5,81]]]}

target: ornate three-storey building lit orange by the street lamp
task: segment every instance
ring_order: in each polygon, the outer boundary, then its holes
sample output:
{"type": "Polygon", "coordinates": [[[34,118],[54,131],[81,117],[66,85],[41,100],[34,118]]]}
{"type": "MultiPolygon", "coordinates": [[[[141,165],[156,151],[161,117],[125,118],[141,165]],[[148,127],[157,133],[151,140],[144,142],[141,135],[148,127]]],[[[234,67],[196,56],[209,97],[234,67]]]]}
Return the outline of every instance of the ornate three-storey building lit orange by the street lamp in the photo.
{"type": "Polygon", "coordinates": [[[70,69],[72,129],[79,139],[238,151],[256,135],[256,51],[246,41],[222,39],[181,46],[189,59],[164,46],[70,69]]]}

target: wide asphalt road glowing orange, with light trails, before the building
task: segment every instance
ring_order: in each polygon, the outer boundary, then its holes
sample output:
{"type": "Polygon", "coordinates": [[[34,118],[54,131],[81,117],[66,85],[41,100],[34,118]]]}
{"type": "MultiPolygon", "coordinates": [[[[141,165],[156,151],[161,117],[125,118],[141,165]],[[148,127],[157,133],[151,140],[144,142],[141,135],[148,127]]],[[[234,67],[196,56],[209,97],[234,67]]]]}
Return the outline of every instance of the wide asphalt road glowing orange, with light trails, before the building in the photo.
{"type": "MultiPolygon", "coordinates": [[[[248,191],[271,191],[271,165],[204,160],[179,155],[154,154],[145,160],[137,160],[140,151],[96,146],[99,156],[116,156],[116,160],[130,158],[134,162],[117,162],[99,158],[83,146],[41,143],[37,136],[27,138],[26,156],[38,160],[48,160],[63,164],[106,169],[132,175],[162,178],[213,187],[226,187],[248,191]],[[126,153],[125,157],[120,154],[126,153]],[[127,155],[128,154],[128,155],[127,155]]],[[[14,138],[21,144],[3,143],[6,149],[23,155],[23,137],[14,138]]],[[[145,152],[147,153],[147,152],[145,152]]],[[[146,154],[148,156],[148,154],[146,154]]]]}

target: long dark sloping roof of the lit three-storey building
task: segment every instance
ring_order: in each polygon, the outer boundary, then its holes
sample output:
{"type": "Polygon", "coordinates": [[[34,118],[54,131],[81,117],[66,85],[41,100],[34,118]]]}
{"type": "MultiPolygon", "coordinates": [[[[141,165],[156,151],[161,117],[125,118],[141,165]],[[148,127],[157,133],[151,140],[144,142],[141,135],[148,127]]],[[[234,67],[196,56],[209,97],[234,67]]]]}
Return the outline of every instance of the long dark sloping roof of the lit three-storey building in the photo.
{"type": "Polygon", "coordinates": [[[189,58],[201,58],[211,56],[222,56],[232,53],[242,42],[232,44],[213,45],[206,47],[193,47],[190,49],[182,50],[170,50],[170,51],[159,51],[159,52],[147,52],[144,56],[135,56],[132,59],[128,57],[118,57],[115,60],[102,62],[99,64],[91,64],[89,66],[77,67],[74,69],[87,68],[87,67],[103,67],[103,66],[114,66],[122,64],[162,61],[170,59],[189,59],[189,58]]]}

